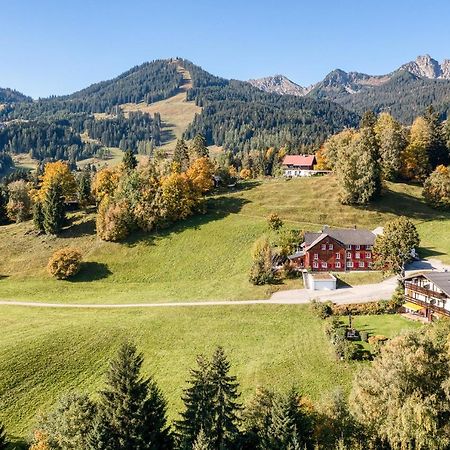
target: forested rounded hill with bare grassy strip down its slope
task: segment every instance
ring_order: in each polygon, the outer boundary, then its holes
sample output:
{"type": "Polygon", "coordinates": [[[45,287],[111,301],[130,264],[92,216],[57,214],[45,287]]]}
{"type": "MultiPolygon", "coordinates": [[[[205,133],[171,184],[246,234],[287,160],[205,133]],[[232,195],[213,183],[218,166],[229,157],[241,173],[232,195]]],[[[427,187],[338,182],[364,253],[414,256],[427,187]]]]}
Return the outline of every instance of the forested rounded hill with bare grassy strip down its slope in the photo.
{"type": "Polygon", "coordinates": [[[169,59],[136,66],[68,96],[9,103],[0,121],[0,151],[74,164],[96,156],[101,147],[149,154],[175,137],[190,139],[196,133],[203,133],[209,145],[233,151],[317,146],[356,124],[357,116],[328,101],[264,93],[190,61],[169,59]]]}

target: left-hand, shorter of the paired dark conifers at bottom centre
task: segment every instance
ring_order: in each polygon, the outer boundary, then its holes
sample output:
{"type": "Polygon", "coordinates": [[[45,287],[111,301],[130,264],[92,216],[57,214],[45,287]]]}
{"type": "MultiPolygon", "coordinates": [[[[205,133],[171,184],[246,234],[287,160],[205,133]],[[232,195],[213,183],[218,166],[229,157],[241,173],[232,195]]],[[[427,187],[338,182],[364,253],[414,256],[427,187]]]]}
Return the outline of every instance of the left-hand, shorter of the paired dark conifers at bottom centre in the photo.
{"type": "Polygon", "coordinates": [[[213,428],[213,389],[210,377],[210,362],[197,357],[197,369],[191,369],[190,386],[182,397],[184,411],[176,423],[180,448],[191,449],[202,431],[209,439],[213,428]]]}

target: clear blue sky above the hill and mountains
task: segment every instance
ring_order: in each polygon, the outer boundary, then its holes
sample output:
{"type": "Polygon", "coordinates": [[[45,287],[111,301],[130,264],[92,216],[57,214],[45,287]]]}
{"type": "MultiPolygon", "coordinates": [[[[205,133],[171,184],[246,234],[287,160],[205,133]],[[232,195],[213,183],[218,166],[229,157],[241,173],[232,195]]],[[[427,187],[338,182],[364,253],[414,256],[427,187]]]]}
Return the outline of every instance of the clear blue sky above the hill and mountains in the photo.
{"type": "Polygon", "coordinates": [[[381,74],[450,58],[446,0],[0,0],[0,86],[67,94],[157,58],[302,85],[339,67],[381,74]]]}

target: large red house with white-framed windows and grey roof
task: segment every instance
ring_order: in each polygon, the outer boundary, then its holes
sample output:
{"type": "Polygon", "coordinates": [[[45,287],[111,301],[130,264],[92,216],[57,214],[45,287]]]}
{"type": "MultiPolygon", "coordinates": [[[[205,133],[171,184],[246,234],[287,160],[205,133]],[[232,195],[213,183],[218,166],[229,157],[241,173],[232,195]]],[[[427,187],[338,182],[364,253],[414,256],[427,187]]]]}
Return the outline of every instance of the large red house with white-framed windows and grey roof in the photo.
{"type": "Polygon", "coordinates": [[[295,268],[311,271],[370,270],[375,237],[364,229],[324,227],[305,233],[301,248],[289,259],[295,268]]]}

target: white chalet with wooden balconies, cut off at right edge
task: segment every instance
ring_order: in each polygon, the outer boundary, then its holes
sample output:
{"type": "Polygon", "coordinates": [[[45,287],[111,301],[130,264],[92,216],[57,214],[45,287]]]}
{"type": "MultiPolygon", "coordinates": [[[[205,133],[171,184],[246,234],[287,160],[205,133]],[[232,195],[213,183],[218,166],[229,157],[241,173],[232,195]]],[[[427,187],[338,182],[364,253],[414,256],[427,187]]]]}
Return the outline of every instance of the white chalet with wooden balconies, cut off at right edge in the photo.
{"type": "Polygon", "coordinates": [[[405,277],[407,312],[433,320],[450,316],[450,272],[420,272],[405,277]]]}

